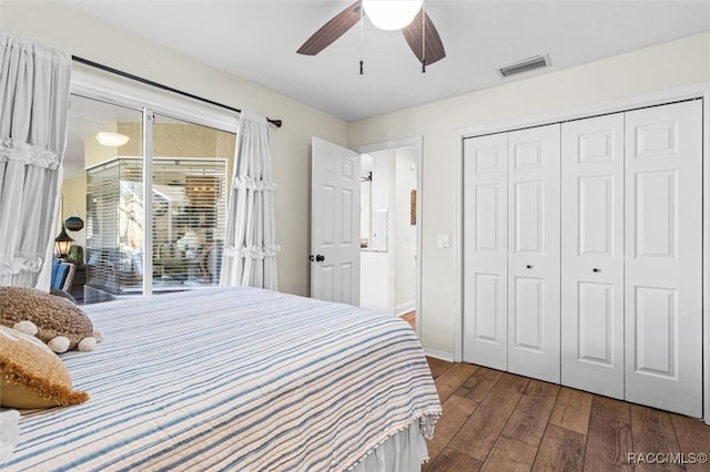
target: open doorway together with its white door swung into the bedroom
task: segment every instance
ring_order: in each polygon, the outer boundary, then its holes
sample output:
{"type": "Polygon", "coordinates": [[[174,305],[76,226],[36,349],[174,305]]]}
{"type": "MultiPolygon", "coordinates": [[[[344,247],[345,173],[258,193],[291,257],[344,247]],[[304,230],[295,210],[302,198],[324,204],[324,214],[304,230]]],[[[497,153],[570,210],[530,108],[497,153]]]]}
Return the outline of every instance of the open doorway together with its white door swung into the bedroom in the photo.
{"type": "Polygon", "coordinates": [[[393,315],[414,310],[418,335],[422,195],[417,189],[422,188],[422,137],[353,151],[313,136],[311,172],[311,297],[393,315]],[[398,197],[395,194],[397,156],[402,179],[398,197]],[[397,220],[404,228],[398,232],[397,220]],[[398,239],[409,247],[408,252],[402,249],[400,253],[409,255],[398,257],[402,275],[396,277],[397,261],[392,256],[398,239]],[[382,264],[373,268],[366,261],[361,276],[363,257],[382,259],[378,260],[382,264]],[[365,288],[361,287],[362,281],[365,288]]]}

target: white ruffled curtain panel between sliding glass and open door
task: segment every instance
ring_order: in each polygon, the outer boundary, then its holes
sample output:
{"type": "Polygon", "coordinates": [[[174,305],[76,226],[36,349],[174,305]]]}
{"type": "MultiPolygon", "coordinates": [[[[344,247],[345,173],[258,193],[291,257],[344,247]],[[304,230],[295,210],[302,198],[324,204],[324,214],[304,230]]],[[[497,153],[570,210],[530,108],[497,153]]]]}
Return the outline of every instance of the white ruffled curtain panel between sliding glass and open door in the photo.
{"type": "Polygon", "coordinates": [[[226,217],[220,285],[278,290],[268,123],[242,112],[226,217]]]}

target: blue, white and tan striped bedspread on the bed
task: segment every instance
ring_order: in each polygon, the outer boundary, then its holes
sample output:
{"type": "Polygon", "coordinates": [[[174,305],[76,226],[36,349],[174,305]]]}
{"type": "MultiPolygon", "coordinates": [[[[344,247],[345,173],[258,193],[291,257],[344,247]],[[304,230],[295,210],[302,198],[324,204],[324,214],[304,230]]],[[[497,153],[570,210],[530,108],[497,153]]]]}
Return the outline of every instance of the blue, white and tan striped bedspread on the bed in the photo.
{"type": "Polygon", "coordinates": [[[91,399],[24,411],[3,470],[347,470],[440,415],[392,315],[247,287],[85,309],[105,339],[62,360],[91,399]]]}

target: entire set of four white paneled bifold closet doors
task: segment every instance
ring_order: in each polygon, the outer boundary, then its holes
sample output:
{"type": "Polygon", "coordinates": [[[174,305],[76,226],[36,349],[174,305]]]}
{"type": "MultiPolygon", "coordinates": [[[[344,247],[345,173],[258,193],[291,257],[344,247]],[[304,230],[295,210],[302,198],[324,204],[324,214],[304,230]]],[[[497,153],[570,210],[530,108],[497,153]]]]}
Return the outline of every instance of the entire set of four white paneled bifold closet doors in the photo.
{"type": "Polygon", "coordinates": [[[464,360],[702,415],[702,102],[464,142],[464,360]]]}

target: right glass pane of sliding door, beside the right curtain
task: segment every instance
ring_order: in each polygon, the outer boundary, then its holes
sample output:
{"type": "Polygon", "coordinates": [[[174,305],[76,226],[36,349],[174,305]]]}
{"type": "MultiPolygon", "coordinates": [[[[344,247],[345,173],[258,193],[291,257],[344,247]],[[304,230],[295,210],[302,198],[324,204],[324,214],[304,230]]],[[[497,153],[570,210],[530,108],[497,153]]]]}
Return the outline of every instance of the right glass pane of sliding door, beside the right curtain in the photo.
{"type": "Polygon", "coordinates": [[[155,114],[154,294],[219,285],[235,137],[155,114]]]}

